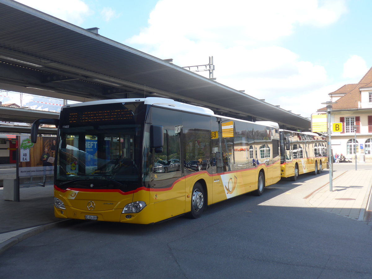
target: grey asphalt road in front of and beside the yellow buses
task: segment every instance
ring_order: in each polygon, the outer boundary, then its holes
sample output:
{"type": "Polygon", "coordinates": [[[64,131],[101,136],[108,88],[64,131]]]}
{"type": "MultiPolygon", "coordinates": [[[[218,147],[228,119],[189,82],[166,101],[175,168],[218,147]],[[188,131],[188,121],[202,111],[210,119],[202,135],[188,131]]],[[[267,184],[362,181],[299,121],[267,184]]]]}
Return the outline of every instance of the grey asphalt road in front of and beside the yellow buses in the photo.
{"type": "MultiPolygon", "coordinates": [[[[335,175],[346,166],[334,166],[335,175]]],[[[365,166],[372,169],[372,166],[365,166]]],[[[353,169],[353,166],[351,166],[353,169]]],[[[0,255],[1,278],[371,278],[367,222],[309,208],[328,172],[154,225],[73,221],[0,255]]]]}

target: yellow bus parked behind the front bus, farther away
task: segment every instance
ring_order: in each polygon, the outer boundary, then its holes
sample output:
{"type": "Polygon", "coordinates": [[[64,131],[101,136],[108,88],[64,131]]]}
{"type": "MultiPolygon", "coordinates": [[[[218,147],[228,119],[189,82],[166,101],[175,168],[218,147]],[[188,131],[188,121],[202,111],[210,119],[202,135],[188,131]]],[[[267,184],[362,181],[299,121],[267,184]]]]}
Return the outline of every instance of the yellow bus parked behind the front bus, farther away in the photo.
{"type": "Polygon", "coordinates": [[[299,174],[321,173],[327,166],[327,142],[325,137],[311,132],[279,130],[280,177],[296,181],[299,174]]]}

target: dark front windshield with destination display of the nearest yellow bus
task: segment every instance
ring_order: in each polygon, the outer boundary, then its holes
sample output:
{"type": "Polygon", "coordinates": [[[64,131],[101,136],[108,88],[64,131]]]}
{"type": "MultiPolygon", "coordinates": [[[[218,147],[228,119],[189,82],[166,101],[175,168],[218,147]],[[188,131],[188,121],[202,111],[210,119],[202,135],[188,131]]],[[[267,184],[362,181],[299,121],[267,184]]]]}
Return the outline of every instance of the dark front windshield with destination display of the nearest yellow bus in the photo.
{"type": "Polygon", "coordinates": [[[136,189],[144,125],[139,106],[113,103],[62,110],[56,186],[136,189]]]}

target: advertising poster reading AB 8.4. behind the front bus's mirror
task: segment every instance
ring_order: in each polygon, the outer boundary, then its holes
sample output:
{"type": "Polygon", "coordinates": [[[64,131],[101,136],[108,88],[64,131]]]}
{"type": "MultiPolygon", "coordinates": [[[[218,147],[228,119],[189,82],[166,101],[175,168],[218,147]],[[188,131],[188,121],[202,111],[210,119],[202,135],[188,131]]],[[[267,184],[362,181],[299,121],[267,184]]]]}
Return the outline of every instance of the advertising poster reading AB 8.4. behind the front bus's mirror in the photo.
{"type": "Polygon", "coordinates": [[[29,136],[19,136],[20,178],[27,176],[54,175],[55,137],[38,137],[36,143],[29,136]]]}

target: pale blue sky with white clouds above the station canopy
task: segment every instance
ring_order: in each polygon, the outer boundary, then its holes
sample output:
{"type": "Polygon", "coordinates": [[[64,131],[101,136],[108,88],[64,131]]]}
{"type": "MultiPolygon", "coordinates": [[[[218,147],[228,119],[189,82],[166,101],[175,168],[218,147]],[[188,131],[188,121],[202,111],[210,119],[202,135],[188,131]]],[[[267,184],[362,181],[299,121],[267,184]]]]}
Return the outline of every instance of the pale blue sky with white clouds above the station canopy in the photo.
{"type": "Polygon", "coordinates": [[[372,67],[369,0],[18,2],[304,117],[372,67]]]}

